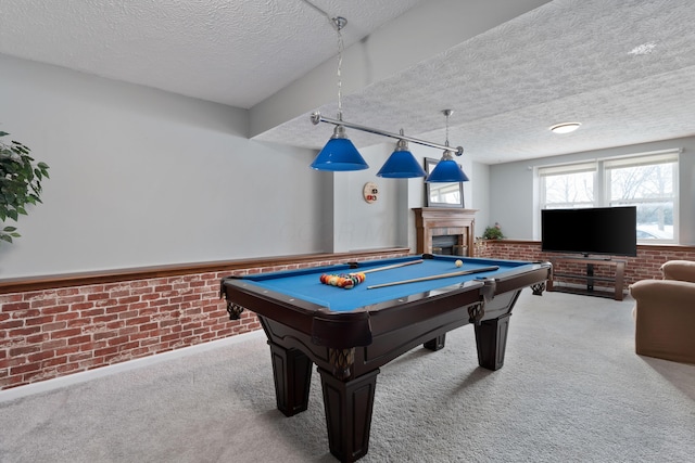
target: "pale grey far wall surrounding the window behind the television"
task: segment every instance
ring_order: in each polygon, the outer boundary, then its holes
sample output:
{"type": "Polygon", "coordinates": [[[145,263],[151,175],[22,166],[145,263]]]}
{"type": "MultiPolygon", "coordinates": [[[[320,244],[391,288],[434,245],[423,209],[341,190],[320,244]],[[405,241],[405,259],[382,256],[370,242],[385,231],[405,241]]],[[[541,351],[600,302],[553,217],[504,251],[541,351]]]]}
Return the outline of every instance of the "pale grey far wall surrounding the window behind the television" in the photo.
{"type": "Polygon", "coordinates": [[[538,200],[534,200],[538,196],[533,173],[535,167],[678,147],[683,149],[679,163],[679,241],[680,244],[693,245],[695,137],[490,166],[490,221],[500,222],[507,237],[540,240],[540,213],[538,200]]]}

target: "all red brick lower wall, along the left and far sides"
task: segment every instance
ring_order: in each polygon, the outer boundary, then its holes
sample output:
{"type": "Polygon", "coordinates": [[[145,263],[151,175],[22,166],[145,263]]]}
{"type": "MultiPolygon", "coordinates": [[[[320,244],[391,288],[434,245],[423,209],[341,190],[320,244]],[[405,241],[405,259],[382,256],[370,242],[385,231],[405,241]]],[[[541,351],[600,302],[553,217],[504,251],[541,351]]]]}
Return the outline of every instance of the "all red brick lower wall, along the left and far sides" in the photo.
{"type": "MultiPolygon", "coordinates": [[[[542,253],[539,242],[510,240],[479,241],[476,255],[517,260],[556,256],[542,253]]],[[[636,258],[626,258],[626,285],[661,278],[659,266],[672,259],[695,260],[695,247],[640,246],[636,258]]],[[[222,278],[346,260],[354,259],[0,295],[0,389],[258,330],[253,312],[229,320],[219,298],[222,278]]]]}

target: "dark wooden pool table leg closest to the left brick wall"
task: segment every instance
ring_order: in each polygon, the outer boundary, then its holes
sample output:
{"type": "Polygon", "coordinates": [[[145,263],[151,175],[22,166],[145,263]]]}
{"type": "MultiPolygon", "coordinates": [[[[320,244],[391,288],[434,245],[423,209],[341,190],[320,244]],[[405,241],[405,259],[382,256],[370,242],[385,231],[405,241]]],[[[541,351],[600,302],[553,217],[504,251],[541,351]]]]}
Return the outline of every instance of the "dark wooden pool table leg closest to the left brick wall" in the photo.
{"type": "Polygon", "coordinates": [[[278,410],[292,416],[306,410],[312,384],[312,361],[299,349],[286,349],[268,342],[278,410]]]}

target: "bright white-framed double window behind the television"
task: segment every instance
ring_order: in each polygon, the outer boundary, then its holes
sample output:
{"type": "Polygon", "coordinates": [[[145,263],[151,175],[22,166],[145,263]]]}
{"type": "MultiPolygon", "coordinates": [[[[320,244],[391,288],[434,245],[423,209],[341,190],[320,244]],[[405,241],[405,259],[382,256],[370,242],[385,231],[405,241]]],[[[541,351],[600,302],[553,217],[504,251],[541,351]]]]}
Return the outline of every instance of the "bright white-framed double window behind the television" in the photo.
{"type": "Polygon", "coordinates": [[[541,167],[541,209],[636,206],[637,241],[673,243],[679,150],[541,167]]]}

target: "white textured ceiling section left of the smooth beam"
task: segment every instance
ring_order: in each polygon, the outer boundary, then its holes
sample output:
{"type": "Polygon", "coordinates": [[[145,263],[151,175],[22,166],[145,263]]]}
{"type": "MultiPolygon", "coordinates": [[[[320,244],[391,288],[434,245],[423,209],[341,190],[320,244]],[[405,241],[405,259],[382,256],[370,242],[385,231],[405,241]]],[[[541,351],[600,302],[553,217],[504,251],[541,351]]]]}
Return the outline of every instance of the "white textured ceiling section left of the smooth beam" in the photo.
{"type": "Polygon", "coordinates": [[[336,55],[321,11],[349,46],[420,1],[0,0],[0,53],[249,108],[336,55]]]}

